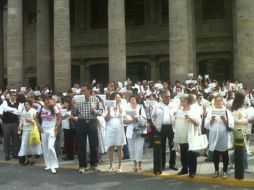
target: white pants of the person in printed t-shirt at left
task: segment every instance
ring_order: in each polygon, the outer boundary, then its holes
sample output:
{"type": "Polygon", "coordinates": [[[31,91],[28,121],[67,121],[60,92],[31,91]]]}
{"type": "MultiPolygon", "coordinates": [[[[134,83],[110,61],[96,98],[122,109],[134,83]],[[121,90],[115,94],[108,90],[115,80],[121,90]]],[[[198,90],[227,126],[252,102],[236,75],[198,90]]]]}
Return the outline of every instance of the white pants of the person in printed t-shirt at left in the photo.
{"type": "Polygon", "coordinates": [[[42,133],[42,148],[44,155],[45,166],[49,168],[59,168],[58,159],[55,150],[56,136],[54,128],[43,129],[42,133]]]}

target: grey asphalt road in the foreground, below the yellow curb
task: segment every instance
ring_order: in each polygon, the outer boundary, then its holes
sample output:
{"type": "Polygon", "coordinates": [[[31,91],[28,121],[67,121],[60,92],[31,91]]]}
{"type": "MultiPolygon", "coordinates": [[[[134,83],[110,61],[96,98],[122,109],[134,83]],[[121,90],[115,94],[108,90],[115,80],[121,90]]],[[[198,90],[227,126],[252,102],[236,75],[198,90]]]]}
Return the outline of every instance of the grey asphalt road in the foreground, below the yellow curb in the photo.
{"type": "MultiPolygon", "coordinates": [[[[144,177],[129,174],[88,173],[79,174],[75,170],[60,169],[56,175],[43,171],[42,168],[0,164],[1,190],[237,190],[218,185],[207,185],[159,177],[144,177]]],[[[246,189],[247,190],[247,189],[246,189]]]]}

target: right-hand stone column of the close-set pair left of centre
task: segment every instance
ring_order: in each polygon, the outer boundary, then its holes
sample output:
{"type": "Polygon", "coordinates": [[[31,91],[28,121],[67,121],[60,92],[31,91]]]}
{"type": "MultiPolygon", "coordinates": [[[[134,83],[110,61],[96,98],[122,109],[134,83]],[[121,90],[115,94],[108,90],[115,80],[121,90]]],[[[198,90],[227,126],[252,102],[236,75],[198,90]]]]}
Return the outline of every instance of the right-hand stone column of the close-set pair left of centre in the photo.
{"type": "Polygon", "coordinates": [[[69,0],[54,0],[54,80],[56,92],[71,87],[69,0]]]}

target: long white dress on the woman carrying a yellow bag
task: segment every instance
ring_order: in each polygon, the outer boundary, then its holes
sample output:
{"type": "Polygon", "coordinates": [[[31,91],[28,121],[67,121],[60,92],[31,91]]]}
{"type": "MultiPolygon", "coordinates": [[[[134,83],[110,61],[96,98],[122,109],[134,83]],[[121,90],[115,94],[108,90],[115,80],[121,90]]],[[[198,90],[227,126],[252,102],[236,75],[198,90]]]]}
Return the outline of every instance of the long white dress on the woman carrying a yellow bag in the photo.
{"type": "Polygon", "coordinates": [[[29,136],[30,131],[33,127],[32,123],[28,123],[25,121],[25,118],[35,119],[36,110],[31,108],[28,112],[23,110],[20,114],[20,126],[22,127],[22,139],[21,139],[21,147],[19,150],[18,156],[28,156],[28,155],[41,155],[42,154],[42,146],[39,145],[30,145],[29,144],[29,136]]]}

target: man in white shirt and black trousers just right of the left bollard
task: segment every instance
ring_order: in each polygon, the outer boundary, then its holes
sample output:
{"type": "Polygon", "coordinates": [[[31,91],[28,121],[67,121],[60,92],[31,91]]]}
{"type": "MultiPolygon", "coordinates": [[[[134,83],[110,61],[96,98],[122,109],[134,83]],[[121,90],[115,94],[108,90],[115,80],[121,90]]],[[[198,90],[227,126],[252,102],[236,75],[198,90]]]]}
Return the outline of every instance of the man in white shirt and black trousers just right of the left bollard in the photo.
{"type": "Polygon", "coordinates": [[[174,148],[174,130],[172,124],[175,120],[174,114],[177,112],[177,106],[171,101],[170,91],[164,89],[161,91],[162,102],[159,103],[161,110],[163,110],[162,128],[161,128],[161,149],[162,149],[162,169],[166,166],[166,141],[170,148],[169,168],[178,170],[175,167],[176,151],[174,148]]]}

